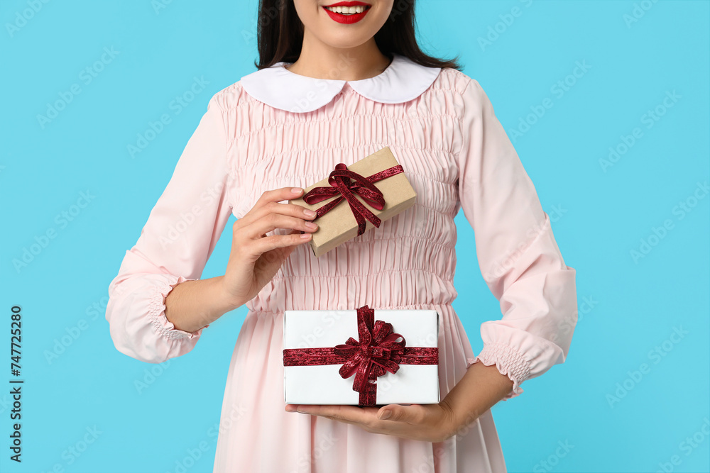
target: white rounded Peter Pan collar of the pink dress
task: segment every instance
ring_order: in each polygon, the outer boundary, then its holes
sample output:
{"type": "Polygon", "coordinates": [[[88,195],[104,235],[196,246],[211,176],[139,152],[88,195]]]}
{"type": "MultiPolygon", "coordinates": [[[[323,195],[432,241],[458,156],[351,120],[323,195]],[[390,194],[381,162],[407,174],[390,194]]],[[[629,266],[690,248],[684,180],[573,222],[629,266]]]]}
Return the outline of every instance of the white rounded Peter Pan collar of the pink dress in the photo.
{"type": "Polygon", "coordinates": [[[410,101],[428,89],[441,72],[440,67],[425,67],[397,53],[381,74],[356,81],[307,77],[283,67],[288,64],[281,61],[259,69],[242,77],[240,83],[247,94],[264,104],[305,113],[332,101],[346,82],[361,96],[383,104],[410,101]]]}

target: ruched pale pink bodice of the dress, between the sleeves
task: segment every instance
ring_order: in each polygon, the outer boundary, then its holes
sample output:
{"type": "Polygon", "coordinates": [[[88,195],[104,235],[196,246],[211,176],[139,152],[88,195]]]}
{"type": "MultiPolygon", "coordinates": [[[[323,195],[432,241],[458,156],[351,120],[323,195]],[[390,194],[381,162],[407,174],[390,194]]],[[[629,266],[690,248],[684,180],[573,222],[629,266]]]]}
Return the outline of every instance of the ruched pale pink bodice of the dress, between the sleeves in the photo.
{"type": "Polygon", "coordinates": [[[444,108],[454,98],[442,102],[441,95],[457,91],[445,83],[435,87],[439,90],[407,106],[393,106],[364,99],[346,84],[332,103],[308,113],[307,119],[250,98],[244,108],[256,110],[234,112],[238,138],[229,150],[234,178],[229,189],[237,218],[263,191],[307,187],[327,177],[337,163],[349,165],[385,146],[417,193],[413,207],[321,257],[314,257],[308,244],[296,247],[272,282],[249,301],[250,310],[344,309],[354,304],[410,308],[456,299],[454,131],[459,121],[455,110],[444,108]],[[263,122],[244,129],[247,115],[263,122]]]}

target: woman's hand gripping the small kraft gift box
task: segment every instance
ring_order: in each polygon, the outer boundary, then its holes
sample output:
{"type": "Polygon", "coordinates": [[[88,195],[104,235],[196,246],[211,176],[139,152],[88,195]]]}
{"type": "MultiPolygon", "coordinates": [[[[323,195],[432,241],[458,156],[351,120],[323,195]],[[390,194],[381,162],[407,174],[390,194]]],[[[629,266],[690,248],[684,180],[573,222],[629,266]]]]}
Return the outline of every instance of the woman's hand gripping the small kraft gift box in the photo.
{"type": "Polygon", "coordinates": [[[296,245],[309,242],[310,232],[317,230],[317,224],[308,221],[315,218],[315,212],[297,204],[279,204],[296,199],[302,193],[300,187],[265,191],[253,208],[234,223],[231,253],[222,284],[226,299],[235,308],[253,299],[271,281],[296,245]],[[266,236],[275,228],[292,230],[288,235],[266,236]],[[301,230],[306,233],[300,233],[301,230]]]}

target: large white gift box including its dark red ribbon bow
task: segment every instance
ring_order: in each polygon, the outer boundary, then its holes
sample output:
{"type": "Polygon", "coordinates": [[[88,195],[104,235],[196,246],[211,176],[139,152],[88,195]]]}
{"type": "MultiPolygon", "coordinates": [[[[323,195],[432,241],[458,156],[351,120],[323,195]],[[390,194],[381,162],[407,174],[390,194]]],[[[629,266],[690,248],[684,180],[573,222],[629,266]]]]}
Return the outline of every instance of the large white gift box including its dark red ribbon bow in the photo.
{"type": "Polygon", "coordinates": [[[436,404],[439,313],[284,311],[286,404],[436,404]]]}

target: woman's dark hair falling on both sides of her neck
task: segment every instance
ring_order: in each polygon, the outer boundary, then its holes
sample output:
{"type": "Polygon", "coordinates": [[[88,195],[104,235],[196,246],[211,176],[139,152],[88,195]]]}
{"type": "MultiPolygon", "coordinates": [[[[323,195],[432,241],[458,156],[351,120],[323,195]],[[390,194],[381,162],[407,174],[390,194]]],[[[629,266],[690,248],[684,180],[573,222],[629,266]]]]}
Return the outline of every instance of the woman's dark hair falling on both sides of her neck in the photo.
{"type": "MultiPolygon", "coordinates": [[[[375,33],[375,43],[383,55],[392,58],[392,53],[396,52],[422,66],[461,70],[458,56],[453,60],[441,60],[426,55],[419,48],[415,35],[415,0],[394,2],[386,23],[375,33]]],[[[259,0],[256,38],[259,59],[254,65],[258,69],[298,59],[303,43],[303,23],[293,0],[259,0]]]]}

